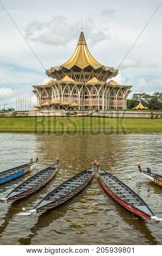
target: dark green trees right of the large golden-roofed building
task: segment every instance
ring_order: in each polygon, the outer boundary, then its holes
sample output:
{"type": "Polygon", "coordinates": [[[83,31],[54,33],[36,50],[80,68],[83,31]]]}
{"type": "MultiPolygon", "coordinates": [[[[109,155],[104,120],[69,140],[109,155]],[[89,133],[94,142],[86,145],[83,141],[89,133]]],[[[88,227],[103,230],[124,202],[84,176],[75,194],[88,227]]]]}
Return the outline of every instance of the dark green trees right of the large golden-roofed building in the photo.
{"type": "Polygon", "coordinates": [[[127,100],[127,109],[136,107],[139,102],[142,103],[145,107],[148,107],[152,110],[162,109],[162,93],[134,93],[132,99],[127,100]]]}

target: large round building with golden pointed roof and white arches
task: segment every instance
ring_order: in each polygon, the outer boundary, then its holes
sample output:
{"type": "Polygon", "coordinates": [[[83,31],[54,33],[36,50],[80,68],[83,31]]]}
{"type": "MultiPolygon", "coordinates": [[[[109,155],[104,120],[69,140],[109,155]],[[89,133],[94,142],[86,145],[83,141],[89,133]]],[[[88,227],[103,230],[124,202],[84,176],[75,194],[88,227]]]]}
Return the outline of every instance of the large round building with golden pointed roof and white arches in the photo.
{"type": "Polygon", "coordinates": [[[71,58],[63,65],[46,70],[46,74],[53,80],[33,86],[38,98],[35,107],[39,109],[127,109],[132,86],[110,80],[118,70],[92,57],[83,32],[71,58]]]}

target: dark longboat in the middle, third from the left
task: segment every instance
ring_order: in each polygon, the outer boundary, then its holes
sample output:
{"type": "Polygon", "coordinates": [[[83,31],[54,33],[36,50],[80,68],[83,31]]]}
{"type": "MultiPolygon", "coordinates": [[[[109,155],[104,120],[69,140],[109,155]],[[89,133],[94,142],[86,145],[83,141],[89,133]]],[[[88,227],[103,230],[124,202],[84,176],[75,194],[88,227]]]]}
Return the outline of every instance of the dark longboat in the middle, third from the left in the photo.
{"type": "Polygon", "coordinates": [[[77,193],[83,190],[92,179],[94,175],[95,164],[84,170],[83,172],[73,176],[71,179],[65,181],[58,187],[54,188],[45,198],[43,198],[34,209],[29,212],[20,212],[17,215],[26,216],[36,214],[38,212],[44,212],[49,209],[55,208],[65,203],[70,198],[76,196],[77,193]]]}

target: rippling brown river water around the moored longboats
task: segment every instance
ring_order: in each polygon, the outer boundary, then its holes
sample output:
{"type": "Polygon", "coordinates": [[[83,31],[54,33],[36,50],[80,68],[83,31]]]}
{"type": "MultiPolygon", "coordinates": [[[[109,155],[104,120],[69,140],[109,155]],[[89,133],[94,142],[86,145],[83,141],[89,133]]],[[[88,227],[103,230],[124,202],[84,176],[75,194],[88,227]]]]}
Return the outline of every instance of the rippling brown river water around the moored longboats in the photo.
{"type": "Polygon", "coordinates": [[[161,223],[133,216],[103,191],[97,170],[91,183],[65,204],[36,216],[16,216],[32,209],[61,182],[98,160],[101,167],[121,179],[162,217],[162,187],[141,176],[135,163],[161,173],[162,134],[33,135],[0,133],[1,171],[27,163],[40,155],[36,168],[0,186],[1,198],[17,184],[60,156],[58,173],[37,193],[14,203],[0,204],[1,245],[161,245],[161,223]],[[132,179],[128,179],[132,176],[132,179]]]}

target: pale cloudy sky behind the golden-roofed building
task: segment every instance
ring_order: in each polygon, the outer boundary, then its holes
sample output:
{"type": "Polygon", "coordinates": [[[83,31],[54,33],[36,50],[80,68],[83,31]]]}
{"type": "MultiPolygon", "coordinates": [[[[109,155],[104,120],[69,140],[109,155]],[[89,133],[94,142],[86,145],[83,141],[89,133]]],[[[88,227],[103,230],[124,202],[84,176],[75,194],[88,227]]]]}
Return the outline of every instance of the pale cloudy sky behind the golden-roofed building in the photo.
{"type": "MultiPolygon", "coordinates": [[[[159,4],[160,0],[1,0],[0,109],[4,103],[15,107],[16,97],[32,97],[33,105],[36,103],[31,86],[48,82],[45,69],[71,57],[82,15],[92,55],[98,62],[118,68],[159,4]]],[[[132,93],[161,92],[161,22],[162,4],[114,78],[133,85],[132,93]]]]}

